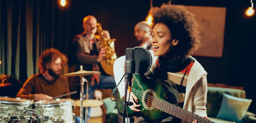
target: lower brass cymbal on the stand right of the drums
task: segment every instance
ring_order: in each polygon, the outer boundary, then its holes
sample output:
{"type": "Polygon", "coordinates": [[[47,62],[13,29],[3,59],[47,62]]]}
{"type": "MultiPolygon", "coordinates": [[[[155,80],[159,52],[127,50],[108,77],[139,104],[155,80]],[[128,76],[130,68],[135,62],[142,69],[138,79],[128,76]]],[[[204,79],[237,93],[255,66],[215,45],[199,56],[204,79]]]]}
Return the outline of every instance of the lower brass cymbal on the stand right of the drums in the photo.
{"type": "MultiPolygon", "coordinates": [[[[80,107],[80,99],[75,100],[74,105],[80,107]]],[[[101,105],[103,105],[103,102],[99,100],[83,100],[83,107],[97,107],[101,105]]]]}

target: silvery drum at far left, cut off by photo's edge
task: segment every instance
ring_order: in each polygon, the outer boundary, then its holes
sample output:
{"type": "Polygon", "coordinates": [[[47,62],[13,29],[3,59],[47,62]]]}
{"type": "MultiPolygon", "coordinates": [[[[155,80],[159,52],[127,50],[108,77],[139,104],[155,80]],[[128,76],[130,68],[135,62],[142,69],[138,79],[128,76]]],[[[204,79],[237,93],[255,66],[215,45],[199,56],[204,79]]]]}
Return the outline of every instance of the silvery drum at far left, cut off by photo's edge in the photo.
{"type": "Polygon", "coordinates": [[[24,109],[32,109],[34,101],[24,98],[0,97],[0,123],[9,121],[28,122],[24,109]]]}

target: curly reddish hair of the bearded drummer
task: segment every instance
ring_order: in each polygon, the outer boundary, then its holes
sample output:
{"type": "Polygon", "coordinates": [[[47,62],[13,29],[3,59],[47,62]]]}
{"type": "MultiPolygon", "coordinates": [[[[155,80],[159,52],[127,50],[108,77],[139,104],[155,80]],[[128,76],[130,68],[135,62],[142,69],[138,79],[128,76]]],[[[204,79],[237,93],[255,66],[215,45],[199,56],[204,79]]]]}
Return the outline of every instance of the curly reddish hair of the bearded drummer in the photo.
{"type": "Polygon", "coordinates": [[[61,58],[62,65],[66,64],[68,61],[67,56],[61,53],[59,50],[54,48],[46,49],[41,54],[39,61],[37,63],[40,72],[45,72],[47,70],[46,65],[51,64],[51,62],[56,60],[57,58],[61,58]]]}

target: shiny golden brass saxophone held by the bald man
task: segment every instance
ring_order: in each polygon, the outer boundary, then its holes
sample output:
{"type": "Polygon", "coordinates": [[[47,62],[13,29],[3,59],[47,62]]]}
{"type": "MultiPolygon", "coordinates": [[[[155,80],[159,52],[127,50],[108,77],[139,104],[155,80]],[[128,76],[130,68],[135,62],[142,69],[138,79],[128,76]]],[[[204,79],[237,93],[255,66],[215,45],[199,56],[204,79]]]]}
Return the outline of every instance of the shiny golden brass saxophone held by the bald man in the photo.
{"type": "Polygon", "coordinates": [[[103,29],[101,27],[101,23],[97,23],[97,32],[99,34],[99,41],[100,41],[100,48],[105,48],[107,50],[107,54],[106,54],[106,58],[104,60],[102,60],[101,63],[101,67],[103,68],[103,70],[109,74],[109,75],[114,75],[113,73],[113,63],[116,60],[116,52],[115,52],[115,45],[114,42],[116,41],[116,39],[107,39],[103,37],[103,29]]]}

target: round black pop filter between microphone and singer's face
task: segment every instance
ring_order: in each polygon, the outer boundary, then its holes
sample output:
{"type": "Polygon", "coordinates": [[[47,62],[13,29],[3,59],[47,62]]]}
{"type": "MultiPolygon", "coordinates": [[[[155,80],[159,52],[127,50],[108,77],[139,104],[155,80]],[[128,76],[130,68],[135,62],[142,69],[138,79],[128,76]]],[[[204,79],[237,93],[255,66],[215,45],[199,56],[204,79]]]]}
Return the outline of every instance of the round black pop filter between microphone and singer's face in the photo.
{"type": "Polygon", "coordinates": [[[144,74],[149,71],[152,64],[152,56],[149,50],[143,47],[134,47],[135,74],[144,74]]]}

